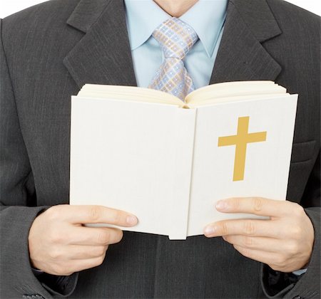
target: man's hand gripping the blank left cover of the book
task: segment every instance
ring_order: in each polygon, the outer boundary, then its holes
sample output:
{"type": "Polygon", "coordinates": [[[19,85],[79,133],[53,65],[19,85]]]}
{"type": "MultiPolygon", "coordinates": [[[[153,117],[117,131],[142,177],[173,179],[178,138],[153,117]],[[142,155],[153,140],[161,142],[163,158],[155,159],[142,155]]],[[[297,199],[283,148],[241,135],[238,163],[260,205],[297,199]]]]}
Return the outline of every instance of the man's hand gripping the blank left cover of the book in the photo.
{"type": "Polygon", "coordinates": [[[109,244],[123,238],[120,229],[83,224],[134,226],[136,216],[104,206],[52,206],[34,220],[29,232],[29,253],[35,268],[68,276],[101,265],[109,244]]]}

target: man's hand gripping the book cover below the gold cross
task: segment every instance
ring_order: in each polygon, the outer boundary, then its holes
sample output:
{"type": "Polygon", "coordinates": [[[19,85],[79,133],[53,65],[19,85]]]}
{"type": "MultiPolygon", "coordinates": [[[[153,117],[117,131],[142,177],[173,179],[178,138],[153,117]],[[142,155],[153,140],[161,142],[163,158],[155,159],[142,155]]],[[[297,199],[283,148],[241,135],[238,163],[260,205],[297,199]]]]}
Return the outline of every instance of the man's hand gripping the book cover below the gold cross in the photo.
{"type": "Polygon", "coordinates": [[[233,198],[218,201],[216,209],[270,219],[219,221],[205,227],[205,236],[222,236],[243,256],[266,263],[275,271],[297,271],[310,261],[314,229],[299,204],[260,197],[233,198]]]}

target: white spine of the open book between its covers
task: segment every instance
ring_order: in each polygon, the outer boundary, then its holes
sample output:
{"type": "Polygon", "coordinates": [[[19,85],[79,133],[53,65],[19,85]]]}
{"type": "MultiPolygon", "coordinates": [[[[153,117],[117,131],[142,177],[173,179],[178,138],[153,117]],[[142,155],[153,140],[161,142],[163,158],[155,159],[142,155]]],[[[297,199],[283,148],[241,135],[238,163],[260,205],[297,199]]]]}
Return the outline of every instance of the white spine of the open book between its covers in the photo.
{"type": "Polygon", "coordinates": [[[193,145],[195,134],[195,109],[178,109],[175,126],[175,173],[173,184],[173,198],[170,203],[171,219],[168,237],[185,239],[188,229],[188,210],[190,202],[190,177],[193,164],[193,145]]]}

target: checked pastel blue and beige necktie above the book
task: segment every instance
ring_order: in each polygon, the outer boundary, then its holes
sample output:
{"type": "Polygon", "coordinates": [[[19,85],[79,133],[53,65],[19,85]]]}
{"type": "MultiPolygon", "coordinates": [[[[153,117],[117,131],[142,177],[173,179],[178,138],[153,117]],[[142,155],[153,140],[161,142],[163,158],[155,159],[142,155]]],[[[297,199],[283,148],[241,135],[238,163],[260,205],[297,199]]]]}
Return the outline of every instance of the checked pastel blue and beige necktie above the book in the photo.
{"type": "Polygon", "coordinates": [[[198,35],[187,23],[171,18],[156,28],[153,37],[162,48],[165,61],[148,88],[162,90],[184,100],[195,88],[183,58],[198,40],[198,35]]]}

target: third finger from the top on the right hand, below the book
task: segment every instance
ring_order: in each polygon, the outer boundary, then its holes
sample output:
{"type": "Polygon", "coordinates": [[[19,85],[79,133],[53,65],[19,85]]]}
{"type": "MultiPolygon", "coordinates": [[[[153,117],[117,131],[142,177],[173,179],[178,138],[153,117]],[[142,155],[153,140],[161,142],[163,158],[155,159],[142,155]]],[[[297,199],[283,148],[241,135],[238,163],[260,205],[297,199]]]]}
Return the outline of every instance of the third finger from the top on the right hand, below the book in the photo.
{"type": "Polygon", "coordinates": [[[223,239],[228,243],[248,248],[256,251],[266,251],[277,253],[284,251],[284,242],[277,238],[264,238],[264,237],[253,237],[253,236],[223,236],[223,239]]]}

